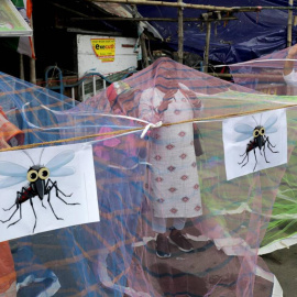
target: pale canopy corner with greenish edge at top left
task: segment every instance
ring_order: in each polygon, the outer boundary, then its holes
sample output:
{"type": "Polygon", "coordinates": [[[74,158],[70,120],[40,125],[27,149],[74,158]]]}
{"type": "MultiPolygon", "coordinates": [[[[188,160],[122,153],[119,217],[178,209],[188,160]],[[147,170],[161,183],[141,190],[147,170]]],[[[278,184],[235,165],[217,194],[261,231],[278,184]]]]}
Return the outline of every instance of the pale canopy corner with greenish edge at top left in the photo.
{"type": "Polygon", "coordinates": [[[0,0],[0,36],[31,36],[32,29],[10,0],[0,0]]]}

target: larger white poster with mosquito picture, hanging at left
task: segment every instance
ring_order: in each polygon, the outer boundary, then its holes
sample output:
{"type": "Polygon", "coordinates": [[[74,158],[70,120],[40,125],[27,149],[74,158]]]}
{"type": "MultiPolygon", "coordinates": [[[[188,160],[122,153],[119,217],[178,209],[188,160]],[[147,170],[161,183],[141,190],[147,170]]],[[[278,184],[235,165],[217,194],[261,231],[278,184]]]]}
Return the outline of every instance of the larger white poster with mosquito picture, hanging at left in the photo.
{"type": "Polygon", "coordinates": [[[0,153],[0,242],[99,221],[90,145],[0,153]]]}

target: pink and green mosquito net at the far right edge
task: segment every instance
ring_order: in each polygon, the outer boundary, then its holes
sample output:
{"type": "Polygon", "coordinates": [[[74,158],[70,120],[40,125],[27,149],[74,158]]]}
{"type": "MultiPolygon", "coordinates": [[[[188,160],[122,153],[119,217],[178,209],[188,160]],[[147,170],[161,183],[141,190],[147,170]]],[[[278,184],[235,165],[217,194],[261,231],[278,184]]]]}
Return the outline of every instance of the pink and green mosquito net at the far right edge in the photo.
{"type": "MultiPolygon", "coordinates": [[[[295,103],[297,64],[296,59],[288,55],[290,50],[292,47],[288,47],[248,63],[231,65],[230,69],[235,84],[262,92],[262,97],[266,97],[267,100],[295,103]],[[275,95],[282,97],[275,97],[275,95]]],[[[262,254],[288,248],[297,242],[296,184],[292,175],[295,154],[294,148],[277,191],[266,234],[261,243],[262,254]]]]}

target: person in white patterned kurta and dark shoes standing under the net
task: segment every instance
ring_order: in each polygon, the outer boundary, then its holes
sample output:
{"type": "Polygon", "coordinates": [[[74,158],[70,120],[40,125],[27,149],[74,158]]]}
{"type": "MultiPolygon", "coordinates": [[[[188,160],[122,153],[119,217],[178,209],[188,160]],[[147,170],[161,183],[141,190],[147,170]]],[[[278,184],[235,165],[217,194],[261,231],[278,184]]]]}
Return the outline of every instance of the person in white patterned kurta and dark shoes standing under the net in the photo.
{"type": "MultiPolygon", "coordinates": [[[[201,109],[197,95],[170,79],[143,91],[139,114],[148,122],[173,123],[191,120],[201,109]]],[[[199,178],[194,146],[194,124],[153,129],[150,133],[148,179],[145,193],[153,206],[153,230],[157,233],[156,255],[169,257],[169,242],[184,252],[193,245],[183,235],[187,218],[202,215],[199,178]],[[172,222],[168,219],[173,219],[172,222]],[[166,237],[166,227],[170,233],[166,237]]]]}

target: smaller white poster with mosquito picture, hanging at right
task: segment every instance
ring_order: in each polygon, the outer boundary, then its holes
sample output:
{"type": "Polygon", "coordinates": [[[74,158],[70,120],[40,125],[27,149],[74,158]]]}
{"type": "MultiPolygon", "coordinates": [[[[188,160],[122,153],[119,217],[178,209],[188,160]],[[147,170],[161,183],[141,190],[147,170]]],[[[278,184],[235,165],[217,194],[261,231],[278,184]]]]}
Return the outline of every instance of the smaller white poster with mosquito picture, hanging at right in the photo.
{"type": "Polygon", "coordinates": [[[223,121],[227,179],[287,163],[285,109],[223,121]]]}

